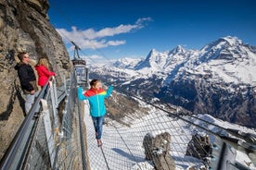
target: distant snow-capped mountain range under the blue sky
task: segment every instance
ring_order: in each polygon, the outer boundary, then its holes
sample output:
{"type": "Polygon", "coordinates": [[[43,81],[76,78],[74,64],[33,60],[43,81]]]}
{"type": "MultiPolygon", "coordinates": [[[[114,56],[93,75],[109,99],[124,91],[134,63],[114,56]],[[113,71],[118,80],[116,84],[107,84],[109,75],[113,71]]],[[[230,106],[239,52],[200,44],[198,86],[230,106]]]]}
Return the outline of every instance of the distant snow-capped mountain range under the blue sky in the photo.
{"type": "Polygon", "coordinates": [[[146,100],[256,128],[256,47],[223,37],[200,50],[152,49],[145,59],[90,65],[91,78],[113,81],[146,100]]]}

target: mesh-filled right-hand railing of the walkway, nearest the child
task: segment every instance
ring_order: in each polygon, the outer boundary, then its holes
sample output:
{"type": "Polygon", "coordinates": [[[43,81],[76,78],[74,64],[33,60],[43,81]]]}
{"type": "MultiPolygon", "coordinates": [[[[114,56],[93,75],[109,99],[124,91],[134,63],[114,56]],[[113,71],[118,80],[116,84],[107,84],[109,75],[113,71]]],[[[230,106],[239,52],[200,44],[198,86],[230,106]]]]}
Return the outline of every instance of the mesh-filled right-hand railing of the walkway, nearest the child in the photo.
{"type": "Polygon", "coordinates": [[[83,146],[83,121],[77,99],[76,73],[70,76],[70,88],[65,100],[65,109],[59,128],[59,142],[54,169],[85,169],[85,153],[83,146]]]}

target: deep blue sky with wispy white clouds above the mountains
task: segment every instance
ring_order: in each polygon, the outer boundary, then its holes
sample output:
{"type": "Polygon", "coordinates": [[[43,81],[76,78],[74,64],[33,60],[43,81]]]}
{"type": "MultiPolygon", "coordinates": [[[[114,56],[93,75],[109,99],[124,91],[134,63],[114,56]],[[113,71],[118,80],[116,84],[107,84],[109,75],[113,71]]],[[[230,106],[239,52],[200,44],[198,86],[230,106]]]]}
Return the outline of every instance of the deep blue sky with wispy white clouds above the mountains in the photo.
{"type": "Polygon", "coordinates": [[[256,46],[255,0],[49,0],[51,24],[73,55],[146,57],[177,45],[200,49],[224,36],[256,46]]]}

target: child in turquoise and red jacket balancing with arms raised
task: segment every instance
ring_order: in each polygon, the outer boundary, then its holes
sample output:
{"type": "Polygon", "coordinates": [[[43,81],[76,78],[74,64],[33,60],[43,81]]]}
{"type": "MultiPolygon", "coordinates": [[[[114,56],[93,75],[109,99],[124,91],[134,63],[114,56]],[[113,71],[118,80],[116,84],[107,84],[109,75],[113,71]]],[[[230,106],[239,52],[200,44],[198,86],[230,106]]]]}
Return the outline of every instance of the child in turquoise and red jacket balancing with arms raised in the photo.
{"type": "Polygon", "coordinates": [[[83,93],[83,88],[78,87],[79,100],[88,100],[90,105],[90,115],[92,116],[94,127],[96,130],[96,140],[98,147],[102,146],[101,136],[104,116],[106,115],[105,98],[108,98],[113,87],[109,86],[108,91],[102,89],[100,80],[93,79],[90,81],[91,88],[83,93]]]}

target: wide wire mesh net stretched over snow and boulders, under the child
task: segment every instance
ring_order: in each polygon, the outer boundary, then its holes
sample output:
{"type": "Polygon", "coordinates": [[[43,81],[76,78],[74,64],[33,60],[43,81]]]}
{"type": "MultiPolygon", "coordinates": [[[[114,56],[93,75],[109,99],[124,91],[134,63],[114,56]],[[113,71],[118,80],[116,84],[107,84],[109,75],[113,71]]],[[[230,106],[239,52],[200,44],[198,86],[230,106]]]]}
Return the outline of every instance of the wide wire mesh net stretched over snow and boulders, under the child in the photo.
{"type": "MultiPolygon", "coordinates": [[[[133,98],[133,95],[130,96],[133,98]]],[[[123,102],[118,98],[114,100],[117,103],[123,102]]],[[[245,138],[238,141],[229,129],[249,132],[248,128],[242,129],[227,122],[214,122],[210,115],[187,115],[177,109],[166,111],[159,106],[147,104],[147,101],[140,101],[140,104],[143,107],[147,105],[148,112],[144,115],[134,113],[123,116],[122,120],[106,117],[103,146],[98,148],[89,115],[90,106],[84,101],[87,152],[92,169],[255,169],[253,161],[247,158],[237,160],[237,155],[248,157],[251,152],[256,155],[256,135],[247,133],[255,140],[246,142],[248,146],[241,146],[245,138]],[[250,152],[240,152],[239,148],[250,148],[250,152]]],[[[122,112],[122,115],[125,113],[122,112]]]]}

